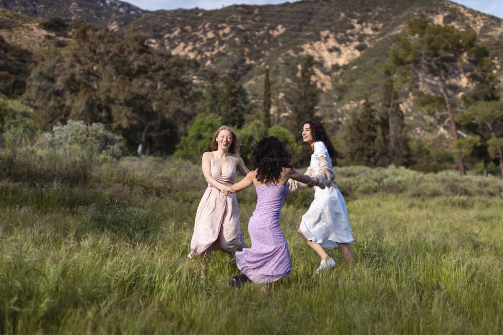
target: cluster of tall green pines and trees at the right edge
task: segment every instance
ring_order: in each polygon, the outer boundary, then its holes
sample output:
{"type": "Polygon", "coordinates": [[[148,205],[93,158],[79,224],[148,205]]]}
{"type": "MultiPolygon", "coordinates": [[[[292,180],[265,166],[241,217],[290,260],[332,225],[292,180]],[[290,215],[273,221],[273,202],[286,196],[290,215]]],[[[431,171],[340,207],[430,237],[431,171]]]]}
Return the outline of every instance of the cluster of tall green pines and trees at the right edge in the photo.
{"type": "Polygon", "coordinates": [[[503,178],[503,105],[494,65],[475,31],[415,18],[406,23],[405,33],[396,36],[399,47],[390,51],[381,104],[365,98],[346,122],[348,161],[426,171],[456,164],[462,176],[479,164],[484,175],[489,165],[499,165],[503,178]],[[395,86],[414,92],[414,107],[435,120],[437,136],[410,143],[412,129],[404,122],[395,86]]]}

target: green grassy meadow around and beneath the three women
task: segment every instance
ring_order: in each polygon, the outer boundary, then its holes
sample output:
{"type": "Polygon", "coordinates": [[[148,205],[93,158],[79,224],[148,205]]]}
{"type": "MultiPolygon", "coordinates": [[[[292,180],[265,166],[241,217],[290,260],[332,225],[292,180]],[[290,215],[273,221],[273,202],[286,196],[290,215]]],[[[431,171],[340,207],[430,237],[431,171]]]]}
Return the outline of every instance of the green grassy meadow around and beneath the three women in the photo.
{"type": "MultiPolygon", "coordinates": [[[[292,274],[236,291],[233,255],[213,252],[204,279],[187,258],[199,165],[23,148],[0,152],[0,333],[503,332],[496,177],[336,167],[354,265],[333,249],[338,265],[313,274],[319,259],[297,233],[313,192],[292,192],[280,221],[292,274]]],[[[238,200],[249,244],[255,190],[238,200]]]]}

